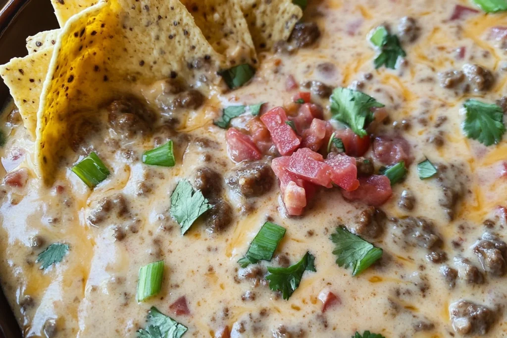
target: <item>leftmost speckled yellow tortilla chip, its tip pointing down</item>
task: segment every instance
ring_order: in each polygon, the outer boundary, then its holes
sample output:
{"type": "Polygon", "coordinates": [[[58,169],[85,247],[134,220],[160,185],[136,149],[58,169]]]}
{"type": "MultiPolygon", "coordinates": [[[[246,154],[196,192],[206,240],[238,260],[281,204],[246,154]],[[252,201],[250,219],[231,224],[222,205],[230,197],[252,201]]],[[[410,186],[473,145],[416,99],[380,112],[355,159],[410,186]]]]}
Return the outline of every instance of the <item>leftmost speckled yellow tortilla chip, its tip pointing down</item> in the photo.
{"type": "Polygon", "coordinates": [[[48,72],[53,48],[46,48],[23,58],[14,58],[0,66],[0,76],[11,91],[24,126],[35,138],[37,111],[44,79],[48,72]]]}

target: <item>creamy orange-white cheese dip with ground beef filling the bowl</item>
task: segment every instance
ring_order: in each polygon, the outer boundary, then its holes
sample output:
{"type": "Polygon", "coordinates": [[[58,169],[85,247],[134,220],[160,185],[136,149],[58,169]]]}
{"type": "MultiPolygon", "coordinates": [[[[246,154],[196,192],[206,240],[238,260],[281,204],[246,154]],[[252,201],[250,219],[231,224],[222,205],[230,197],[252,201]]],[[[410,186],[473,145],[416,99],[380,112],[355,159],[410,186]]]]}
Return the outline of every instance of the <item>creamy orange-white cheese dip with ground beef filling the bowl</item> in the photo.
{"type": "MultiPolygon", "coordinates": [[[[122,129],[112,106],[101,108],[95,121],[73,126],[73,151],[60,162],[51,187],[37,177],[35,144],[11,112],[15,107],[6,108],[0,282],[25,336],[134,337],[153,306],[187,326],[184,337],[225,337],[219,332],[227,326],[231,337],[350,337],[369,330],[392,338],[443,338],[459,336],[467,325],[468,336],[507,336],[507,276],[483,269],[474,252],[484,233],[507,240],[501,208],[507,207],[506,136],[486,147],[461,129],[464,100],[494,103],[507,93],[507,52],[490,36],[493,27],[507,24],[507,14],[468,10],[451,20],[457,5],[470,6],[458,0],[309,3],[304,20],[318,25],[317,42],[293,53],[259,55],[260,69],[247,86],[225,95],[209,92],[198,108],[172,109],[167,82],[139,85],[128,90],[153,111],[134,120],[134,128],[122,129]],[[419,28],[402,33],[399,23],[406,16],[419,28]],[[374,68],[376,53],[367,40],[371,29],[386,23],[407,53],[395,70],[374,68]],[[489,69],[494,82],[480,91],[442,88],[438,73],[465,64],[489,69]],[[245,198],[233,179],[241,164],[229,158],[226,131],[212,123],[232,104],[291,106],[297,90],[286,90],[287,79],[352,86],[375,97],[388,114],[376,134],[396,132],[410,143],[408,175],[379,207],[387,219],[379,221],[382,233],[369,239],[383,256],[355,277],[336,264],[329,237],[340,224],[357,231],[366,222],[367,206],[347,202],[338,188],[320,189],[302,216],[288,217],[277,182],[266,191],[260,184],[255,190],[262,196],[245,198]],[[168,139],[174,143],[174,167],[142,164],[144,151],[168,139]],[[70,171],[91,151],[111,171],[94,190],[70,171]],[[426,158],[439,174],[421,180],[417,163],[426,158]],[[182,236],[170,216],[170,195],[179,179],[194,182],[203,167],[219,173],[206,184],[214,187],[209,202],[228,201],[230,210],[215,218],[203,215],[182,236]],[[229,226],[215,231],[227,216],[229,226]],[[411,232],[407,216],[424,217],[430,233],[424,227],[411,232]],[[286,229],[278,257],[241,269],[238,259],[266,220],[286,229]],[[424,247],[432,236],[441,243],[424,247]],[[68,253],[41,270],[38,254],[56,242],[68,244],[68,253]],[[316,272],[305,272],[284,300],[267,286],[265,267],[287,258],[295,264],[307,251],[315,256],[316,272]],[[138,303],[139,268],[158,260],[165,262],[162,289],[138,303]],[[324,312],[321,299],[328,291],[339,300],[324,312]],[[171,306],[181,297],[188,312],[171,306]],[[462,299],[486,307],[486,317],[453,320],[462,299]]],[[[312,95],[312,101],[331,117],[327,98],[312,95]]],[[[231,125],[241,129],[244,120],[233,119],[231,125]]],[[[365,156],[373,158],[371,147],[365,156]]],[[[377,169],[380,165],[375,160],[377,169]]]]}

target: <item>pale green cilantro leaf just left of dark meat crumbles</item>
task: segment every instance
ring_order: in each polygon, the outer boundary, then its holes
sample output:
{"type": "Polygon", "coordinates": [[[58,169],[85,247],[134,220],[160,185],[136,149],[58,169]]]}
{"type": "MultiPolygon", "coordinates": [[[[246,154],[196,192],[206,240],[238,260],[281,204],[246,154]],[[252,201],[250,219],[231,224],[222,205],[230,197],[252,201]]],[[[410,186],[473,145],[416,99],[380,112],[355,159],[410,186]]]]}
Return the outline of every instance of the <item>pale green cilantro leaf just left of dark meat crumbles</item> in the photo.
{"type": "Polygon", "coordinates": [[[171,216],[178,222],[182,235],[185,235],[192,223],[209,209],[211,206],[201,191],[195,192],[186,179],[178,182],[171,195],[171,216]]]}

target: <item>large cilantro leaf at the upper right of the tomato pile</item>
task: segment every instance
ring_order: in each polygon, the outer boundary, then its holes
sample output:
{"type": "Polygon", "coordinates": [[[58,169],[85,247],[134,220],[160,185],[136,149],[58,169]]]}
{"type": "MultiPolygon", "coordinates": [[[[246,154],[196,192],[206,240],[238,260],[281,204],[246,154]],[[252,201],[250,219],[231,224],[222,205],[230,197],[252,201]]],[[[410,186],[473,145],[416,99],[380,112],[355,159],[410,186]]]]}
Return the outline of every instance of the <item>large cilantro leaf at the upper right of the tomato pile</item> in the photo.
{"type": "Polygon", "coordinates": [[[348,125],[361,137],[368,134],[365,125],[373,120],[370,109],[384,106],[370,95],[343,87],[336,88],[330,99],[333,118],[348,125]]]}

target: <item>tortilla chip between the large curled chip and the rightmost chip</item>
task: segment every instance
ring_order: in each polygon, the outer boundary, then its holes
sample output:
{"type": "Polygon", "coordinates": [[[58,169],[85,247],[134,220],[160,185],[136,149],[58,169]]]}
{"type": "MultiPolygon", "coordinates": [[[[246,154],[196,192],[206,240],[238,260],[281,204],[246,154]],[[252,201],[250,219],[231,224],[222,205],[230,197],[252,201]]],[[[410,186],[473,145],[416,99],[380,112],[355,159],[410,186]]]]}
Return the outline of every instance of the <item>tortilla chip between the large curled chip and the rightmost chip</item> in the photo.
{"type": "Polygon", "coordinates": [[[248,26],[241,8],[230,0],[182,0],[196,25],[214,50],[224,55],[230,66],[257,63],[248,26]]]}

